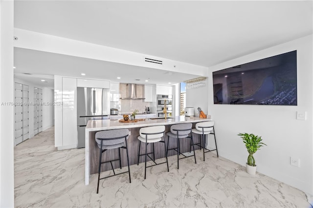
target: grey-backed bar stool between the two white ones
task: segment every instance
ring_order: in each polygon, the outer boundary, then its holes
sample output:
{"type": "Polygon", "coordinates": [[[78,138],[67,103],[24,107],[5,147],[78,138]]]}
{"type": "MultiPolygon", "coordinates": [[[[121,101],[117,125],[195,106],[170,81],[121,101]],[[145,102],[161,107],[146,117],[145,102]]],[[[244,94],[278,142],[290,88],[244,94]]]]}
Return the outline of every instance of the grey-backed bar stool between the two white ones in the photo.
{"type": "MultiPolygon", "coordinates": [[[[167,148],[166,148],[166,151],[172,150],[172,149],[177,151],[177,169],[179,169],[179,155],[180,154],[182,154],[184,156],[183,158],[192,156],[192,155],[191,156],[186,156],[186,155],[184,155],[183,153],[180,152],[179,140],[182,139],[182,138],[190,138],[191,139],[190,147],[192,145],[193,150],[194,150],[195,163],[197,164],[196,154],[195,154],[195,147],[194,147],[194,141],[193,141],[193,138],[192,138],[192,134],[190,134],[191,133],[191,129],[192,129],[192,124],[191,123],[188,123],[188,124],[176,124],[176,125],[172,125],[171,126],[171,131],[166,133],[166,135],[167,135],[167,148]],[[191,136],[188,136],[189,134],[191,136]],[[168,149],[168,144],[169,144],[170,137],[177,139],[177,148],[168,149]]],[[[183,159],[183,158],[180,158],[180,159],[183,159]]]]}

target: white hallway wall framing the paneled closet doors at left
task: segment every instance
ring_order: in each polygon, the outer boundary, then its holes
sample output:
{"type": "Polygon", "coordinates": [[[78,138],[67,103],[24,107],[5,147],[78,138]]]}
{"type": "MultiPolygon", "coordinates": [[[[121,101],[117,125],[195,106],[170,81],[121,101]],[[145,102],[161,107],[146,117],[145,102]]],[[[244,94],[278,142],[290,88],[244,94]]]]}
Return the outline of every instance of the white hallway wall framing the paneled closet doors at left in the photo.
{"type": "MultiPolygon", "coordinates": [[[[54,102],[54,91],[48,87],[34,85],[33,83],[28,83],[27,81],[21,79],[14,79],[15,83],[26,84],[29,86],[29,101],[34,102],[34,87],[43,89],[43,103],[53,103],[54,102]]],[[[29,105],[29,138],[34,135],[34,105],[29,105]]],[[[43,105],[43,131],[54,125],[54,106],[53,105],[43,105]]]]}

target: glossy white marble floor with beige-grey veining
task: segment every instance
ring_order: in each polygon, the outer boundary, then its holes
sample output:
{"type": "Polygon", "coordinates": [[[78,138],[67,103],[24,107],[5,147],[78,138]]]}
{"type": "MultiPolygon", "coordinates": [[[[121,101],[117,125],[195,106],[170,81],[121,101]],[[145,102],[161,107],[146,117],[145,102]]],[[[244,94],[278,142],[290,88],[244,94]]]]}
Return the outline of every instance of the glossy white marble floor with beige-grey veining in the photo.
{"type": "MultiPolygon", "coordinates": [[[[304,192],[258,173],[248,175],[246,168],[196,150],[193,157],[169,157],[166,164],[149,167],[144,180],[144,163],[131,166],[128,174],[100,181],[97,175],[85,186],[85,149],[57,151],[51,127],[14,149],[15,207],[42,208],[309,208],[304,192]]],[[[159,160],[163,162],[164,160],[159,160]]],[[[121,171],[126,170],[122,168],[121,171]]],[[[102,174],[112,174],[107,171],[102,174]]]]}

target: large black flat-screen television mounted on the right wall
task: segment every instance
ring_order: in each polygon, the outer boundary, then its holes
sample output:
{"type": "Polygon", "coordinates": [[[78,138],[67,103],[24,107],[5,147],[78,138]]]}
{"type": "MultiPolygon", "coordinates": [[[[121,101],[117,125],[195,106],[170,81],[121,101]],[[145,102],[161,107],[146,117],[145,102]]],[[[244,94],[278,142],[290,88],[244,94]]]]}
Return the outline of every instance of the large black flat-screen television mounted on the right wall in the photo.
{"type": "Polygon", "coordinates": [[[297,51],[213,72],[214,104],[297,105],[297,51]]]}

